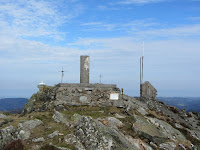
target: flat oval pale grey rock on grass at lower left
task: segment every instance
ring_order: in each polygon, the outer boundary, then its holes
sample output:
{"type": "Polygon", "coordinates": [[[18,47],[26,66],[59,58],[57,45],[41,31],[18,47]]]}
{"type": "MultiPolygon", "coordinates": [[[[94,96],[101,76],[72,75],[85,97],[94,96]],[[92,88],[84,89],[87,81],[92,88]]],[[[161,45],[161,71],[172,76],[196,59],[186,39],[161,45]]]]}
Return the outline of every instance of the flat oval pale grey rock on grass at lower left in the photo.
{"type": "Polygon", "coordinates": [[[26,131],[30,131],[37,126],[41,125],[43,122],[39,119],[25,121],[23,123],[19,123],[18,128],[26,131]]]}

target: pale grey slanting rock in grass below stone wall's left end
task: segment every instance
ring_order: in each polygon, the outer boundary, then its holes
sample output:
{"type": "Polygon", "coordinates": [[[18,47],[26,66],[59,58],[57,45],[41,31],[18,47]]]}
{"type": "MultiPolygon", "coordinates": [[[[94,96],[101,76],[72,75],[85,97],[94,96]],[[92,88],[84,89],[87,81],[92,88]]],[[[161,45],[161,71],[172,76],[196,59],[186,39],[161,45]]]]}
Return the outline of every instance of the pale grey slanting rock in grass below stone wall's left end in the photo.
{"type": "Polygon", "coordinates": [[[56,111],[56,110],[54,110],[54,114],[53,114],[52,119],[53,119],[55,122],[64,123],[64,124],[66,124],[67,126],[69,126],[69,122],[68,122],[67,116],[66,116],[65,114],[62,114],[62,113],[56,111]]]}

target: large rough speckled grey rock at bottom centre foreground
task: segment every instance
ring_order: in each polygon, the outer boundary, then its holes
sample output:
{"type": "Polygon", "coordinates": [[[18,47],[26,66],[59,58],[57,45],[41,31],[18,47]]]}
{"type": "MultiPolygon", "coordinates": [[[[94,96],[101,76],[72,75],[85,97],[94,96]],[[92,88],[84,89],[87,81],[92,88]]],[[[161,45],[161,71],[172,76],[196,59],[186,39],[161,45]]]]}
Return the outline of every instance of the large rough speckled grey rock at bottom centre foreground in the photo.
{"type": "Polygon", "coordinates": [[[87,150],[136,149],[119,131],[104,126],[91,117],[83,116],[76,126],[75,136],[87,150]]]}

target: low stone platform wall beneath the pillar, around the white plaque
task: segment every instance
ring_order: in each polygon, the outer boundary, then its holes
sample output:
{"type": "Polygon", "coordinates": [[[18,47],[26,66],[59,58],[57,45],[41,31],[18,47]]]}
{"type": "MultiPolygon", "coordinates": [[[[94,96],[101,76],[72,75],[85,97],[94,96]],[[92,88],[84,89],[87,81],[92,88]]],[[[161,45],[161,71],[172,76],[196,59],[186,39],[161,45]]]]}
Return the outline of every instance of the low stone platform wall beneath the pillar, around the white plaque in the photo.
{"type": "Polygon", "coordinates": [[[113,84],[58,84],[54,89],[57,105],[117,106],[120,104],[120,89],[113,84]],[[110,94],[118,93],[119,100],[111,100],[110,94]]]}

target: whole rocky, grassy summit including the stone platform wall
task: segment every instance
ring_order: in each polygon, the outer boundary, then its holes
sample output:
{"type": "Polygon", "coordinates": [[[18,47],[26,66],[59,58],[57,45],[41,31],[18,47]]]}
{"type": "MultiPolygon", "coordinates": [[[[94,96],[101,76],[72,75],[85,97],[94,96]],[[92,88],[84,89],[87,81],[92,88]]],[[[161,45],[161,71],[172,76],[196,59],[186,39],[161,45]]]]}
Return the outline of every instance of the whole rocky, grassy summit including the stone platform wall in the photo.
{"type": "Polygon", "coordinates": [[[0,150],[199,150],[200,116],[115,85],[40,86],[0,114],[0,150]]]}

